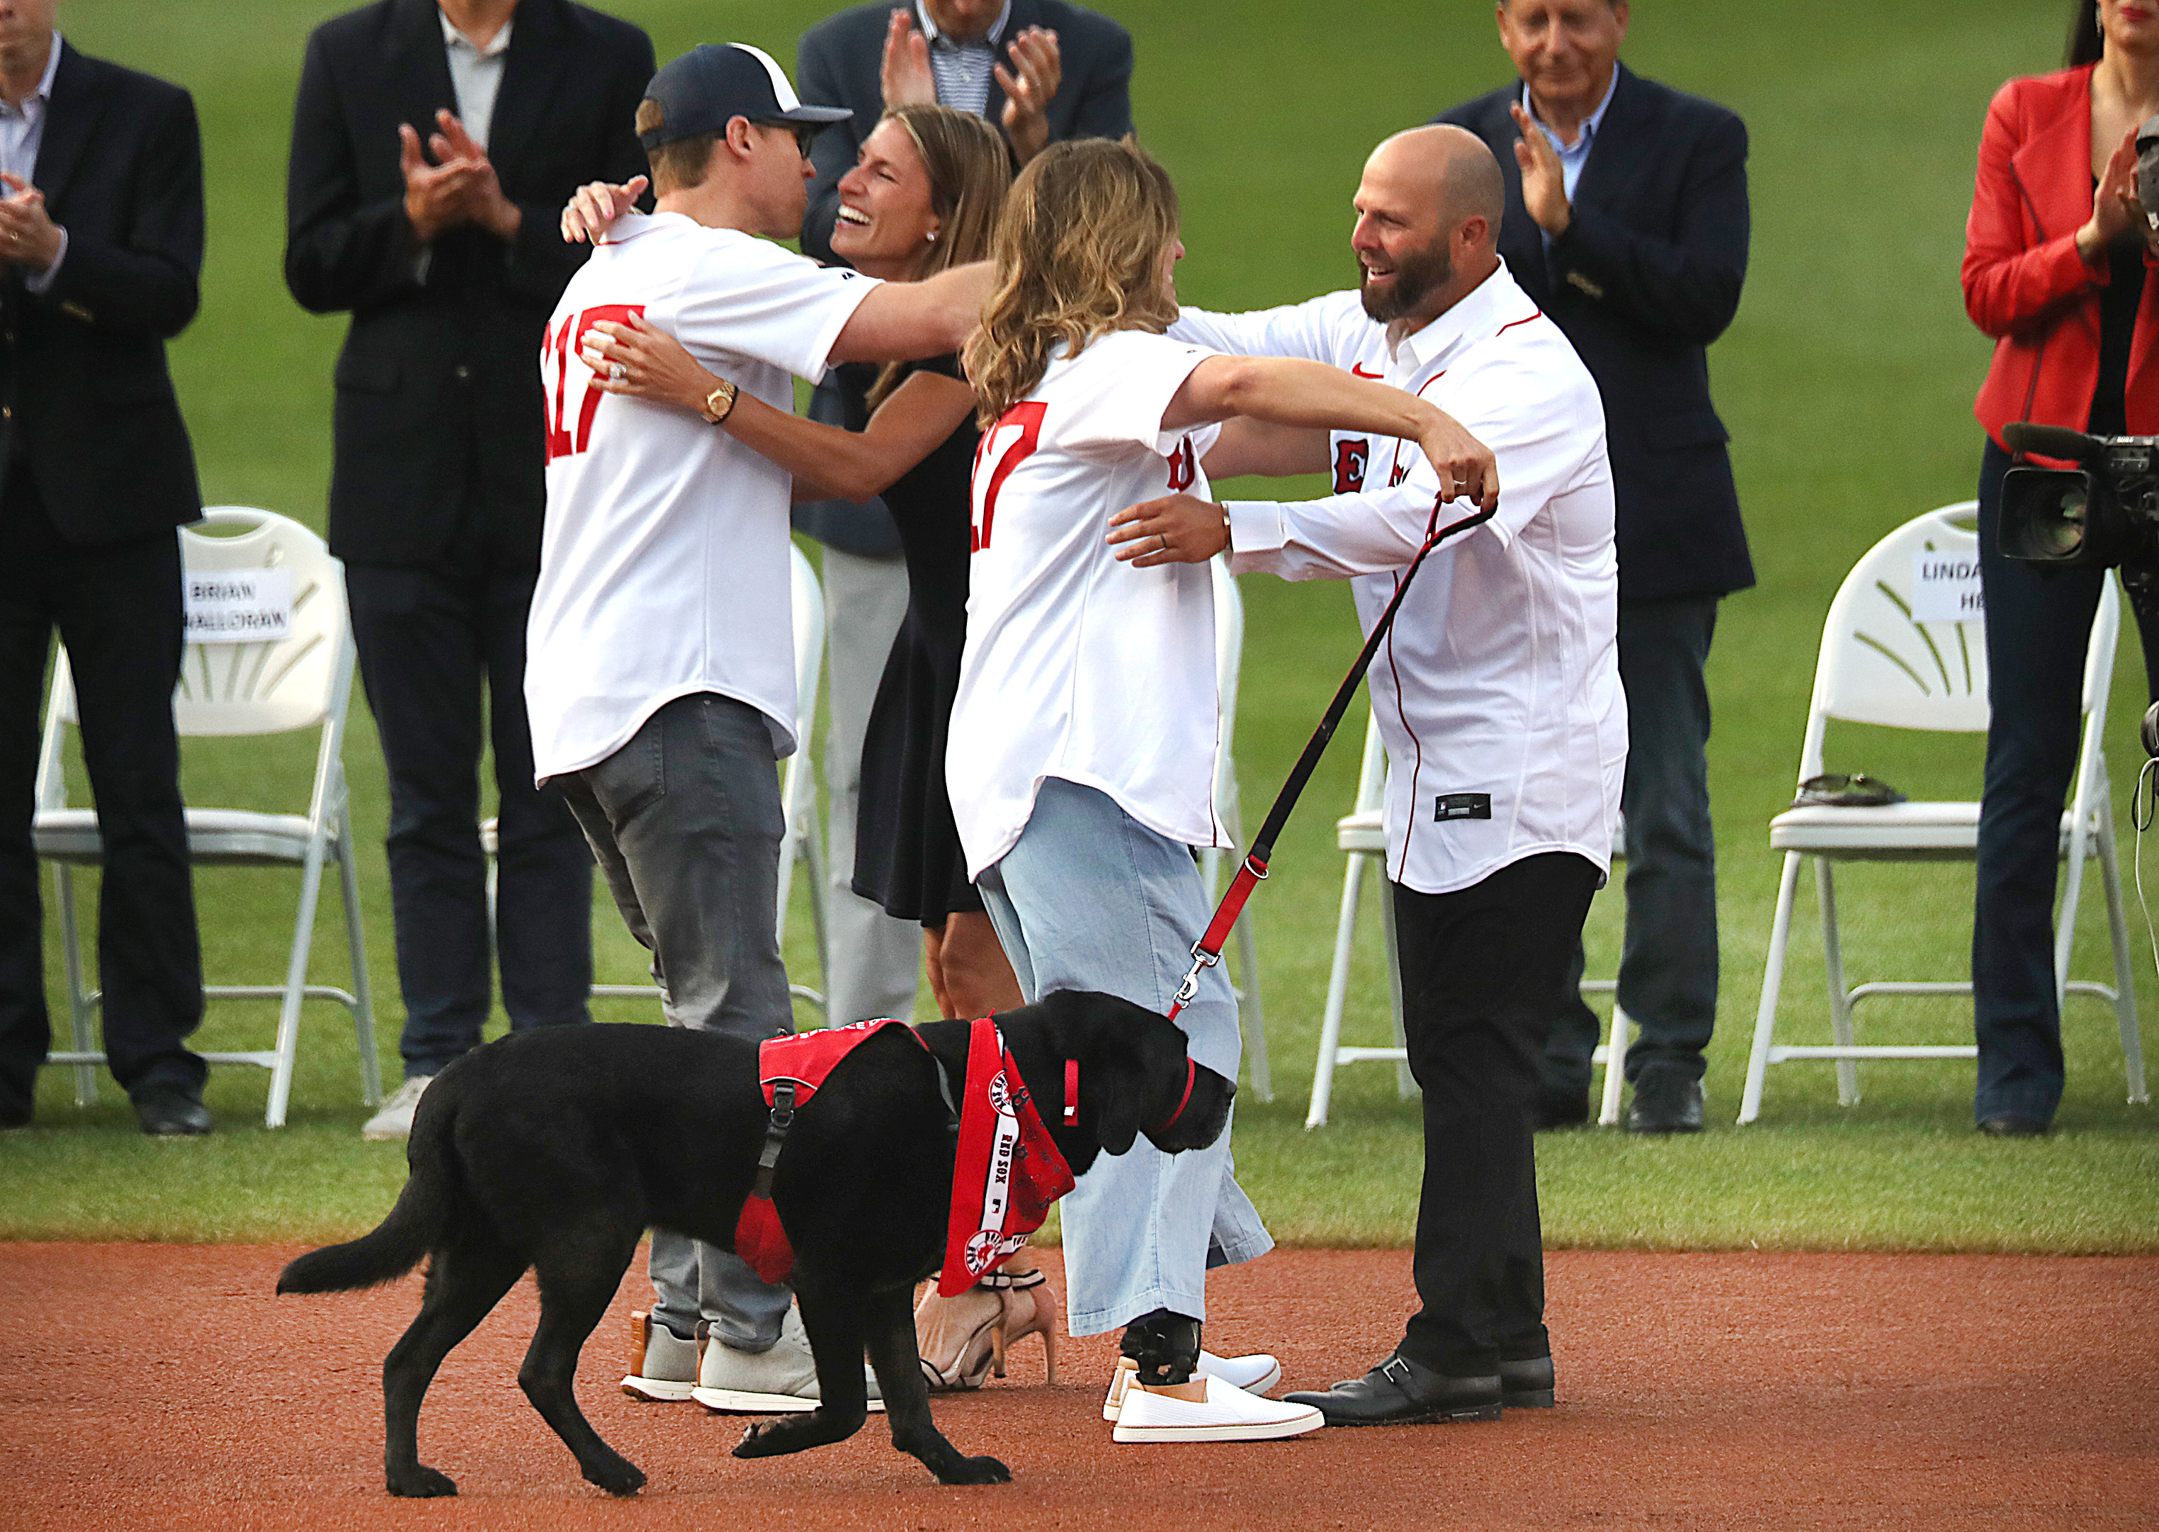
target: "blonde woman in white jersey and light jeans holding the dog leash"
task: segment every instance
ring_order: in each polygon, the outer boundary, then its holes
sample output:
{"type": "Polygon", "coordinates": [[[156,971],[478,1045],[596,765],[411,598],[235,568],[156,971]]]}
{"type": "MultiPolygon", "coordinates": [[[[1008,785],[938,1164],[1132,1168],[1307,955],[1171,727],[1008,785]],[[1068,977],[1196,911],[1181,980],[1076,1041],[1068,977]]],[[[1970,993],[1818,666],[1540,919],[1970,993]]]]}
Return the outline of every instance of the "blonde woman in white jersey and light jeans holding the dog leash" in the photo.
{"type": "MultiPolygon", "coordinates": [[[[982,447],[946,776],[967,871],[1028,998],[1108,990],[1168,1011],[1209,914],[1190,849],[1226,845],[1209,573],[1118,564],[1110,516],[1164,488],[1205,495],[1198,462],[1233,415],[1401,436],[1449,497],[1498,490],[1492,456],[1410,393],[1166,339],[1181,255],[1177,194],[1153,160],[1108,140],[1054,145],[1013,186],[995,294],[965,352],[982,447]]],[[[1237,1076],[1220,970],[1179,1024],[1200,1063],[1237,1076]]],[[[1071,1331],[1125,1329],[1129,1361],[1103,1409],[1118,1441],[1321,1424],[1261,1396],[1280,1376],[1272,1357],[1200,1350],[1207,1268],[1274,1245],[1233,1178],[1228,1134],[1179,1156],[1142,1137],[1097,1160],[1062,1217],[1071,1331]]]]}

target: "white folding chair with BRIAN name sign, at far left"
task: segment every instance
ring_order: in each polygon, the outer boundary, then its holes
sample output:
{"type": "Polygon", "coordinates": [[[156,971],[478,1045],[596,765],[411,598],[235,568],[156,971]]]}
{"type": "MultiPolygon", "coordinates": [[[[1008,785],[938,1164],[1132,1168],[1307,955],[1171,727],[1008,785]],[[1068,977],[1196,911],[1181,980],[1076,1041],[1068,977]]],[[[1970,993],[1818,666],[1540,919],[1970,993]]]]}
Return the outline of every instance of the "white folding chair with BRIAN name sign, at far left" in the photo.
{"type": "MultiPolygon", "coordinates": [[[[188,858],[196,866],[298,866],[300,908],[294,914],[285,983],[203,985],[209,998],[279,1000],[276,1046],[257,1052],[205,1052],[209,1063],[253,1063],[270,1070],[263,1124],[281,1128],[291,1100],[291,1072],[300,1050],[300,1003],[337,1000],[352,1011],[361,1048],[361,1096],[382,1098],[376,1072],[376,1024],[367,998],[367,949],[361,933],[358,879],[354,877],[352,819],[345,806],[345,707],[352,698],[352,624],[345,616],[343,566],[322,538],[268,510],[216,506],[203,512],[205,532],[179,529],[181,566],[190,577],[222,570],[291,570],[291,624],[281,640],[190,642],[181,655],[173,720],[181,739],[212,735],[274,735],[320,728],[315,784],[304,815],[244,808],[188,808],[188,858]],[[345,903],[345,951],[352,992],[307,983],[307,953],[315,933],[322,864],[337,862],[345,903]]],[[[73,1048],[45,1063],[76,1065],[76,1100],[95,1100],[91,1011],[99,994],[84,981],[82,940],[76,929],[76,866],[104,862],[97,812],[67,806],[63,741],[76,722],[76,689],[63,650],[45,711],[45,739],[37,763],[37,854],[54,862],[60,936],[67,949],[67,1009],[73,1048]]]]}

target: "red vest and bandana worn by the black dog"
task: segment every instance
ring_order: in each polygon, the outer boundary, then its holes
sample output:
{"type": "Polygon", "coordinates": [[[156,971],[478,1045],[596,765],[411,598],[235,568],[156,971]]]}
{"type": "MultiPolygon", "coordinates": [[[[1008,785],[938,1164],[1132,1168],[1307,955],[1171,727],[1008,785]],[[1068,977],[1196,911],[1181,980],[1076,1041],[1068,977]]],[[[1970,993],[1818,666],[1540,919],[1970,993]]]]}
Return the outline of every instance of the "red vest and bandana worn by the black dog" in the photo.
{"type": "MultiPolygon", "coordinates": [[[[758,1083],[764,1087],[764,1104],[773,1108],[775,1132],[786,1132],[782,1111],[792,1113],[816,1096],[833,1067],[885,1026],[905,1022],[853,1022],[760,1044],[758,1083]],[[782,1087],[788,1087],[790,1096],[786,1106],[779,1100],[782,1087]]],[[[915,1033],[909,1031],[909,1037],[915,1033]]],[[[773,1137],[766,1139],[766,1145],[775,1143],[773,1137]]],[[[937,1290],[965,1292],[985,1273],[995,1271],[1043,1227],[1049,1204],[1071,1188],[1071,1167],[1043,1128],[1019,1078],[1019,1065],[1004,1050],[997,1024],[985,1016],[974,1022],[967,1037],[967,1089],[959,1106],[952,1214],[937,1290]]],[[[786,1281],[795,1268],[795,1247],[779,1227],[769,1195],[751,1191],[743,1199],[734,1225],[734,1253],[764,1281],[786,1281]]]]}

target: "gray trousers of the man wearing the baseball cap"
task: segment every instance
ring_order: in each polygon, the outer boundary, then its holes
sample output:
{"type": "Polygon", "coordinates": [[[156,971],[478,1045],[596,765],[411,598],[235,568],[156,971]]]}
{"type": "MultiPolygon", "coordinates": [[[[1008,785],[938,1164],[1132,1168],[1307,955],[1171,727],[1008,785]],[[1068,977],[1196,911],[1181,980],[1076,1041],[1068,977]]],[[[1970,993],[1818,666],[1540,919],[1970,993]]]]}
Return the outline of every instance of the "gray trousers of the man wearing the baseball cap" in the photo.
{"type": "MultiPolygon", "coordinates": [[[[779,776],[764,715],[700,691],[661,707],[598,765],[555,778],[615,895],[652,949],[669,1026],[764,1042],[795,1031],[775,938],[779,776]]],[[[792,1294],[745,1260],[652,1232],[652,1318],[710,1320],[738,1350],[779,1340],[792,1294]]]]}

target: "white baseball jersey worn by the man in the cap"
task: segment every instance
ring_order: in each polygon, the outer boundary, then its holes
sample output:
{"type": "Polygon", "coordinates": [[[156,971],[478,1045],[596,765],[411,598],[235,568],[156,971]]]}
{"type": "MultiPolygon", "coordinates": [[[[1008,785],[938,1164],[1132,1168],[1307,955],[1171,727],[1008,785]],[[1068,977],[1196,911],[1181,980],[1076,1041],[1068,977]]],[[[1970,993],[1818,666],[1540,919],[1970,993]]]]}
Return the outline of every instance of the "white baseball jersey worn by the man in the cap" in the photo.
{"type": "Polygon", "coordinates": [[[533,776],[620,750],[665,702],[717,691],[795,752],[792,478],[702,417],[589,389],[581,341],[641,313],[773,408],[816,382],[870,277],[682,214],[620,218],[546,326],[546,529],[527,624],[533,776]]]}

